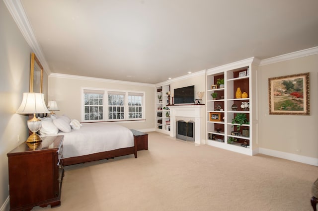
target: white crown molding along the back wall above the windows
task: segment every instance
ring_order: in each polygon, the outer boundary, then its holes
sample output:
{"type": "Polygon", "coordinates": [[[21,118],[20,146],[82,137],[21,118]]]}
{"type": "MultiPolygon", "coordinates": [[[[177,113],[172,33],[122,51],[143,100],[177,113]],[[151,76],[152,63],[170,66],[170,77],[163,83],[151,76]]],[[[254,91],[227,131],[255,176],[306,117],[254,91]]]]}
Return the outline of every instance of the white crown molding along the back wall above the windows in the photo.
{"type": "Polygon", "coordinates": [[[98,82],[104,82],[104,83],[121,83],[121,84],[134,85],[134,86],[155,87],[155,84],[152,84],[152,83],[139,83],[139,82],[131,82],[131,81],[125,81],[125,80],[112,80],[112,79],[104,79],[104,78],[98,78],[98,77],[87,77],[87,76],[61,74],[61,73],[51,73],[49,77],[76,79],[76,80],[91,80],[91,81],[98,81],[98,82]]]}

